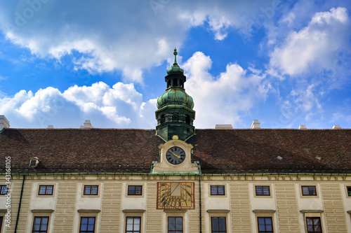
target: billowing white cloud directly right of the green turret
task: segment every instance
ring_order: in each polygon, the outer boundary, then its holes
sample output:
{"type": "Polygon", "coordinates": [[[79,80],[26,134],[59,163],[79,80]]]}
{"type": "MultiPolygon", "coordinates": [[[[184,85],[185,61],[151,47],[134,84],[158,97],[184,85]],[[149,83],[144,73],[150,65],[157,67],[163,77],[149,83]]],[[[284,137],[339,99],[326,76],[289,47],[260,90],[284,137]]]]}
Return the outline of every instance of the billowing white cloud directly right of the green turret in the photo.
{"type": "Polygon", "coordinates": [[[241,121],[238,113],[248,113],[265,99],[270,85],[260,71],[249,73],[238,64],[227,64],[226,71],[214,77],[208,73],[211,64],[210,57],[195,52],[182,65],[188,72],[185,88],[197,111],[194,124],[199,128],[213,128],[223,122],[237,126],[241,121]]]}

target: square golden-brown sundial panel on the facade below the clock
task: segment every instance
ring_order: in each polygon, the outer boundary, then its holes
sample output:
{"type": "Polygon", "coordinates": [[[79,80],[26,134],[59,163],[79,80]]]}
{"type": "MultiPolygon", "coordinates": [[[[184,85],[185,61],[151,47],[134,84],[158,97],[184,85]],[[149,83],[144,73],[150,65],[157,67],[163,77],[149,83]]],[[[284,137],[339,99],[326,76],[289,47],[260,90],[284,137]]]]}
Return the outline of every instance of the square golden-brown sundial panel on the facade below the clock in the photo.
{"type": "Polygon", "coordinates": [[[157,209],[195,209],[194,182],[157,183],[157,209]]]}

